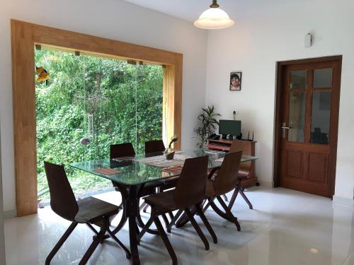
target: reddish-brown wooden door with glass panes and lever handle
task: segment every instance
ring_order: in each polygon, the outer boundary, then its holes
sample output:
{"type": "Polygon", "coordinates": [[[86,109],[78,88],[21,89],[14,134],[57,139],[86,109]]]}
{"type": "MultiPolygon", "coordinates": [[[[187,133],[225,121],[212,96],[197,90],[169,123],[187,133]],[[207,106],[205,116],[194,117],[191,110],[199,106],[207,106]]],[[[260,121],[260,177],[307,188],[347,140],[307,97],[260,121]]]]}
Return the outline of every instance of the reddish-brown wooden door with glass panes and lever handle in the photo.
{"type": "Polygon", "coordinates": [[[333,196],[340,79],[338,60],[284,66],[280,187],[333,196]]]}

